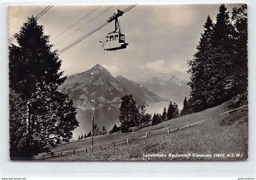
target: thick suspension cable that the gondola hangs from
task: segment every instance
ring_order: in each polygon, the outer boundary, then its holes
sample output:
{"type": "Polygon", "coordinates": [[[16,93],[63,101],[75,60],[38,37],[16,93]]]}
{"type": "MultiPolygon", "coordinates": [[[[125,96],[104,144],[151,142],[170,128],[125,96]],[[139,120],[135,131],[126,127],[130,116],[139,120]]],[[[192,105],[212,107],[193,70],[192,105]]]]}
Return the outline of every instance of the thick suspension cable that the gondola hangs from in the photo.
{"type": "MultiPolygon", "coordinates": [[[[127,9],[125,9],[123,11],[123,13],[129,11],[130,9],[132,9],[133,7],[135,7],[136,4],[130,5],[129,7],[127,7],[127,9]]],[[[69,44],[68,46],[64,47],[63,49],[59,50],[59,52],[57,52],[57,54],[61,54],[62,52],[65,52],[67,49],[69,49],[70,47],[73,47],[74,45],[76,45],[77,43],[79,43],[80,41],[84,40],[85,38],[87,38],[88,36],[92,35],[94,32],[102,29],[102,27],[107,26],[107,24],[109,24],[111,21],[107,21],[104,24],[102,24],[101,26],[97,27],[96,29],[92,30],[91,32],[87,33],[86,35],[80,37],[78,40],[74,41],[73,43],[69,44]]]]}

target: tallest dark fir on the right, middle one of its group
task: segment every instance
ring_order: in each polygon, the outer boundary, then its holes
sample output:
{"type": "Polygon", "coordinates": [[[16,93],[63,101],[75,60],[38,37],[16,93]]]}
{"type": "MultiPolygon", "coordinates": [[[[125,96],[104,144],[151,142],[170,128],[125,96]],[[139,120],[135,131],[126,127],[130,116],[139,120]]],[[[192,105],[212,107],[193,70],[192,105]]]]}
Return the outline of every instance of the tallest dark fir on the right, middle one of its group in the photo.
{"type": "Polygon", "coordinates": [[[229,12],[224,4],[219,7],[216,16],[216,24],[213,27],[213,49],[211,74],[214,89],[211,91],[214,97],[213,104],[219,105],[229,100],[234,92],[234,28],[230,21],[229,12]]]}

